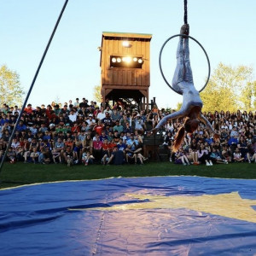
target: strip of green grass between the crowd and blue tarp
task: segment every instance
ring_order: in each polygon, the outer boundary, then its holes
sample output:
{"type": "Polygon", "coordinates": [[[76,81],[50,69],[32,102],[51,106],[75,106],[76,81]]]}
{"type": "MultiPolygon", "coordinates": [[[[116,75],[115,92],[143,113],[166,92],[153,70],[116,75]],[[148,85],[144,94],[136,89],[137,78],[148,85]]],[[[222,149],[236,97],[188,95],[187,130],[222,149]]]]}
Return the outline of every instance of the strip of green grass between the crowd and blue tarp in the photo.
{"type": "Polygon", "coordinates": [[[29,183],[65,180],[100,179],[105,177],[201,176],[224,178],[256,178],[256,165],[232,163],[214,166],[181,166],[170,162],[149,162],[144,166],[72,166],[5,163],[0,174],[0,189],[29,183]]]}

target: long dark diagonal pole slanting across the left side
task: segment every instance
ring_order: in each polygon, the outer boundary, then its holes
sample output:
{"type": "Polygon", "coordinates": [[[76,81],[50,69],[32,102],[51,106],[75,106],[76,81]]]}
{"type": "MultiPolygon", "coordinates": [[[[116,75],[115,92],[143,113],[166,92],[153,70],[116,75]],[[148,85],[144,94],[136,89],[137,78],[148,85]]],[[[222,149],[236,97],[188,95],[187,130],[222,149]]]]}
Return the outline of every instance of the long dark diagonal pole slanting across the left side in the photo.
{"type": "Polygon", "coordinates": [[[55,36],[55,31],[56,31],[56,29],[57,29],[57,27],[58,27],[58,25],[59,25],[59,23],[60,23],[60,21],[61,21],[61,16],[62,16],[62,14],[64,13],[64,10],[66,9],[67,2],[68,2],[68,0],[66,0],[66,2],[64,3],[64,5],[63,5],[63,7],[62,7],[62,9],[61,9],[61,14],[59,15],[59,18],[58,18],[58,20],[57,20],[56,23],[55,23],[55,28],[54,28],[53,32],[51,33],[51,36],[50,36],[50,38],[49,38],[49,42],[48,42],[46,48],[44,49],[44,55],[43,55],[42,58],[41,58],[41,61],[40,61],[39,65],[38,65],[37,72],[35,73],[34,79],[32,80],[32,84],[30,85],[30,88],[29,88],[29,90],[28,90],[28,92],[27,92],[26,99],[25,99],[25,101],[24,101],[24,103],[23,103],[23,106],[22,106],[22,108],[21,108],[21,110],[20,110],[19,117],[18,117],[18,119],[16,120],[14,130],[13,130],[11,136],[9,137],[9,143],[8,143],[8,145],[7,145],[7,147],[6,147],[6,150],[5,150],[4,154],[3,154],[3,159],[2,159],[2,161],[1,161],[1,163],[0,163],[0,172],[2,171],[3,162],[4,162],[5,158],[6,158],[6,155],[7,155],[7,153],[8,153],[9,147],[11,146],[12,141],[13,141],[13,138],[14,138],[14,136],[15,136],[16,127],[17,127],[17,125],[19,124],[20,119],[21,119],[21,116],[22,116],[22,113],[24,112],[24,109],[25,109],[25,107],[26,107],[26,102],[27,102],[27,100],[28,100],[28,98],[29,98],[29,96],[30,96],[30,94],[31,94],[31,92],[32,92],[32,89],[33,89],[33,86],[34,86],[34,84],[35,84],[35,82],[36,82],[36,79],[38,78],[38,73],[39,73],[39,71],[40,71],[41,66],[43,65],[44,58],[45,58],[45,56],[46,56],[46,54],[47,54],[47,51],[48,51],[48,49],[49,49],[49,45],[50,45],[52,39],[53,39],[54,36],[55,36]]]}

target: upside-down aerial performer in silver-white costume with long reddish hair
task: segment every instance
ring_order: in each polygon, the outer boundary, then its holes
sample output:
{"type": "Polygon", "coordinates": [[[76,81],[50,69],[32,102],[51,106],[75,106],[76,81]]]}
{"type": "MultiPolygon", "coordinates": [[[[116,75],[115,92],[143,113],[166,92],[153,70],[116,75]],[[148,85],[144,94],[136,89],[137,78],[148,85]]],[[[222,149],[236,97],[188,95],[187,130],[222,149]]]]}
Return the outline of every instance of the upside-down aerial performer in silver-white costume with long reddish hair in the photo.
{"type": "MultiPolygon", "coordinates": [[[[185,24],[181,27],[181,34],[189,35],[189,24],[185,24]]],[[[149,131],[149,135],[154,134],[160,129],[162,125],[166,125],[168,119],[185,118],[184,124],[177,131],[175,142],[172,148],[173,152],[176,152],[180,147],[185,131],[192,134],[198,127],[200,121],[207,125],[207,129],[214,133],[214,139],[219,136],[216,134],[209,121],[201,114],[201,108],[203,106],[199,92],[195,89],[193,83],[193,75],[189,61],[189,38],[180,37],[177,45],[177,66],[172,79],[172,86],[180,94],[183,95],[183,105],[177,112],[166,115],[160,120],[158,125],[152,131],[149,131]]]]}

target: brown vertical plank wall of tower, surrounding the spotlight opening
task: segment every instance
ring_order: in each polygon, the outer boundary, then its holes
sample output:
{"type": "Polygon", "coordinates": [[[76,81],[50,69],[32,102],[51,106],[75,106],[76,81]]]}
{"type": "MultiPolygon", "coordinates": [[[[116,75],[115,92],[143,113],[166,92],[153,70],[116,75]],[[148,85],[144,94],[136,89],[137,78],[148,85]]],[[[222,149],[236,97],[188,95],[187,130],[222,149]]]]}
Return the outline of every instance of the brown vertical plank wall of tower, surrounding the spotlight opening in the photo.
{"type": "Polygon", "coordinates": [[[149,40],[128,40],[131,47],[125,48],[120,38],[103,39],[102,42],[102,86],[149,86],[150,52],[149,40]],[[110,67],[110,55],[136,55],[143,57],[143,68],[110,67]]]}

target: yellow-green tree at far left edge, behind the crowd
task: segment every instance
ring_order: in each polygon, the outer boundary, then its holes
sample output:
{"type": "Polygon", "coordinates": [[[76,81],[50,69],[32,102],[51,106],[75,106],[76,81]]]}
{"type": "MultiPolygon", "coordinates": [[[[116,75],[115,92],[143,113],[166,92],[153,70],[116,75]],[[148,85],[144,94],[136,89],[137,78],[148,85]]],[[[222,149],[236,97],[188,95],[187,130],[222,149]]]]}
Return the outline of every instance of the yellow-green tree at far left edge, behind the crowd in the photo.
{"type": "Polygon", "coordinates": [[[21,105],[24,94],[18,73],[5,65],[0,67],[0,102],[9,106],[21,105]]]}

